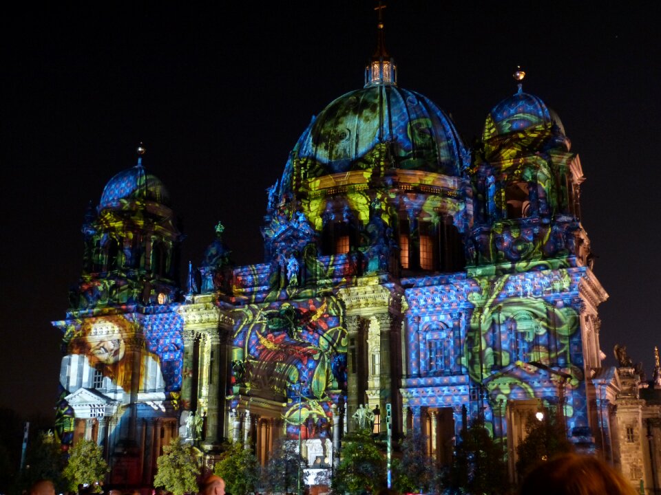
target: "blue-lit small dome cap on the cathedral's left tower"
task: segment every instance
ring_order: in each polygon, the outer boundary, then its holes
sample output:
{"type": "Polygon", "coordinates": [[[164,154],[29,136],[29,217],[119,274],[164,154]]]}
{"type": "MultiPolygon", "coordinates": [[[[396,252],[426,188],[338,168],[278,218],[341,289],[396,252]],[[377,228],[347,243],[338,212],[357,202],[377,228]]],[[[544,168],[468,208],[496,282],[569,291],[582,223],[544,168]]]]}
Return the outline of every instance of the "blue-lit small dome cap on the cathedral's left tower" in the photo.
{"type": "Polygon", "coordinates": [[[144,199],[169,206],[169,193],[156,175],[147,173],[138,164],[123,170],[108,181],[103,188],[98,209],[116,205],[120,200],[134,201],[144,199]]]}

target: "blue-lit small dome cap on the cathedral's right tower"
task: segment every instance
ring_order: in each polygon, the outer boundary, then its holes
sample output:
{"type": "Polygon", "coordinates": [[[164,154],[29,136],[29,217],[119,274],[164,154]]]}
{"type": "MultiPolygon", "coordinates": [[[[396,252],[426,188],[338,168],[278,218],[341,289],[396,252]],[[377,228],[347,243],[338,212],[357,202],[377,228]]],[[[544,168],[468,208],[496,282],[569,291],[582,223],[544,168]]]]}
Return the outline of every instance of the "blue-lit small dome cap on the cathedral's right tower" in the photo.
{"type": "Polygon", "coordinates": [[[496,104],[487,115],[483,141],[548,123],[558,124],[564,133],[558,115],[550,111],[540,98],[519,91],[496,104]]]}

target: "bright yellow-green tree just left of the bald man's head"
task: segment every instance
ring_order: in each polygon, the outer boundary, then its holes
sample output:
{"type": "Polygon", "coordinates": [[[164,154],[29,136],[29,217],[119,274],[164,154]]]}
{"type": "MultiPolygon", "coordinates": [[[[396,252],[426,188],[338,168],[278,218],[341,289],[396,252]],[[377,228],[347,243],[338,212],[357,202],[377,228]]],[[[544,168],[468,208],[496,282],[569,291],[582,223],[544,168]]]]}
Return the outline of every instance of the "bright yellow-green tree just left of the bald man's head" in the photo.
{"type": "Polygon", "coordinates": [[[163,452],[156,460],[158,470],[154,486],[165,487],[174,495],[197,492],[202,452],[181,437],[172,439],[170,445],[163,447],[163,452]]]}

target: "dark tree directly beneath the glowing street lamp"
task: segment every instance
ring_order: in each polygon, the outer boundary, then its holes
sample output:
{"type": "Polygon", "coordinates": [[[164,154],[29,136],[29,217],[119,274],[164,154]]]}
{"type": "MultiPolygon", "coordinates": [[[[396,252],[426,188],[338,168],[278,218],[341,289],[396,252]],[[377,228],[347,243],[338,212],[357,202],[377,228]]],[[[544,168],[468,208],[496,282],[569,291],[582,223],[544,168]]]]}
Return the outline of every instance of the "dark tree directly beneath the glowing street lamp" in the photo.
{"type": "Polygon", "coordinates": [[[523,478],[539,463],[573,450],[563,421],[553,414],[545,414],[539,421],[531,412],[525,425],[525,439],[516,448],[516,472],[519,478],[523,478]]]}

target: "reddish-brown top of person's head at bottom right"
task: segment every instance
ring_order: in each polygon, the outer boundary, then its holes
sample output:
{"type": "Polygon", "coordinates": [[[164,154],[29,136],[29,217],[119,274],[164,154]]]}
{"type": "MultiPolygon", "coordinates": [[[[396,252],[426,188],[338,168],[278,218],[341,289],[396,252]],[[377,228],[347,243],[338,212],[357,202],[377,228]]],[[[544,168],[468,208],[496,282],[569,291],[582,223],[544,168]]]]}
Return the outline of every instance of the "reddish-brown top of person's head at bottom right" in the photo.
{"type": "Polygon", "coordinates": [[[521,495],[636,495],[622,474],[594,456],[562,454],[525,476],[521,495]]]}

